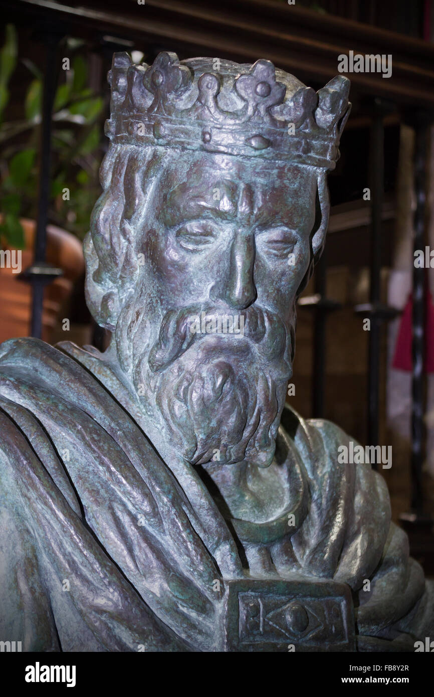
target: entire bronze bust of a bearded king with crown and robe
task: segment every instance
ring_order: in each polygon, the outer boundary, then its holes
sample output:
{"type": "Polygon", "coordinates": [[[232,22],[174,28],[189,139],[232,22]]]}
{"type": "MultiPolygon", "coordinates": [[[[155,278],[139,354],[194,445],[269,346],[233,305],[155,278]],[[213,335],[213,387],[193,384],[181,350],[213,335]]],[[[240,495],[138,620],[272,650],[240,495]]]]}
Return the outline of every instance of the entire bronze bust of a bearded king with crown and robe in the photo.
{"type": "Polygon", "coordinates": [[[0,346],[0,639],[414,650],[433,590],[350,441],[286,406],[349,82],[115,54],[84,242],[107,351],[0,346]]]}

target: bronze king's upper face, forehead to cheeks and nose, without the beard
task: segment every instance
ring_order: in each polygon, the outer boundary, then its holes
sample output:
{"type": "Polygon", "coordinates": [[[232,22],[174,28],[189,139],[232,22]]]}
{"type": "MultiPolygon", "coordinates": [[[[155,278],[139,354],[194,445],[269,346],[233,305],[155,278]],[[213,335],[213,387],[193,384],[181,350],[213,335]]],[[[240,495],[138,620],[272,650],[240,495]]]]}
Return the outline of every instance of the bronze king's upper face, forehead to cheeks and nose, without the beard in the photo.
{"type": "Polygon", "coordinates": [[[164,169],[139,236],[162,312],[212,302],[290,320],[311,255],[316,171],[210,153],[164,169]]]}

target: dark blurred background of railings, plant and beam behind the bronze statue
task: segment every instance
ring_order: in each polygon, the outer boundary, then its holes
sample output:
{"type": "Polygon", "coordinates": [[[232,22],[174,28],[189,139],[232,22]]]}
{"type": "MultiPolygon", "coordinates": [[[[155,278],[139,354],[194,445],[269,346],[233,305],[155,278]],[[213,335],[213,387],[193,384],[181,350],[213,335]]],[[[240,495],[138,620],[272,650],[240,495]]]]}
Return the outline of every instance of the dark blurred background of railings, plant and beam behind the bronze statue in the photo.
{"type": "Polygon", "coordinates": [[[314,89],[339,56],[392,56],[348,72],[352,113],[329,178],[326,252],[299,301],[290,404],[362,445],[394,520],[434,574],[434,6],[431,0],[1,0],[0,341],[107,346],[84,301],[82,240],[108,147],[115,51],[152,63],[270,59],[314,89]],[[22,272],[3,263],[22,251],[22,272]],[[422,250],[425,268],[414,266],[422,250]],[[366,330],[366,319],[370,328],[366,330]]]}

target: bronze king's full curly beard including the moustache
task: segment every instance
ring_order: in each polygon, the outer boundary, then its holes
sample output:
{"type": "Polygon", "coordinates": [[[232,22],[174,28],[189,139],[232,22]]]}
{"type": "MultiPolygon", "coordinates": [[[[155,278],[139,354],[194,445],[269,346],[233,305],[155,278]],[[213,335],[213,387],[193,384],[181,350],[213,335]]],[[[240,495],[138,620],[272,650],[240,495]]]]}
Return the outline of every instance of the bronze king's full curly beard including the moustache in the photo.
{"type": "Polygon", "coordinates": [[[279,317],[252,305],[236,313],[244,335],[201,334],[190,330],[192,316],[235,313],[190,305],[166,312],[152,331],[149,316],[145,330],[139,307],[130,305],[116,343],[125,346],[126,332],[137,395],[150,415],[159,413],[183,457],[194,465],[246,460],[269,466],[292,374],[295,316],[286,330],[279,317]]]}

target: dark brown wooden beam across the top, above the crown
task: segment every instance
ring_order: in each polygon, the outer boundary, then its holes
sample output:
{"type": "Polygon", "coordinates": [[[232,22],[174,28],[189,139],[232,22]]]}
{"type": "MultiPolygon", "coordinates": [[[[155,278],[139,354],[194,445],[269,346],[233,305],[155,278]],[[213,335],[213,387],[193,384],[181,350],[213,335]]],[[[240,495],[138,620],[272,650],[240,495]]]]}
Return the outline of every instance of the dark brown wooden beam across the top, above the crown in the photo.
{"type": "MultiPolygon", "coordinates": [[[[303,10],[274,0],[3,0],[3,19],[61,20],[76,36],[104,32],[129,38],[137,49],[175,49],[182,57],[208,54],[250,62],[268,58],[316,84],[336,75],[339,54],[392,54],[392,77],[352,73],[355,91],[398,102],[434,106],[434,47],[423,40],[303,10]],[[96,32],[96,33],[95,33],[96,32]]],[[[150,58],[153,56],[151,55],[150,58]]]]}

